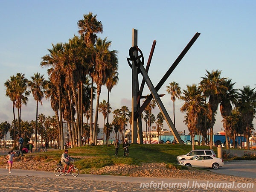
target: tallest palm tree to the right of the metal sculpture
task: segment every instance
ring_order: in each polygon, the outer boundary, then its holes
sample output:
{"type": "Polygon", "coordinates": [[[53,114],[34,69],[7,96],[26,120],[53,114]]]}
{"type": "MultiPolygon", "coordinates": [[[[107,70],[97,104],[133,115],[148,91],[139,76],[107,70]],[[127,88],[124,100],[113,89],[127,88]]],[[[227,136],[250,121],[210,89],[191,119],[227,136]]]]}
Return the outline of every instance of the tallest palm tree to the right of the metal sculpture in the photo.
{"type": "Polygon", "coordinates": [[[215,123],[215,112],[218,109],[218,104],[221,102],[221,94],[226,91],[226,87],[224,81],[227,78],[221,78],[221,71],[212,70],[210,73],[207,71],[205,77],[202,77],[202,81],[200,82],[200,88],[203,90],[204,95],[209,97],[208,106],[209,106],[209,116],[211,122],[210,128],[210,149],[212,149],[212,140],[213,140],[213,125],[215,123]]]}

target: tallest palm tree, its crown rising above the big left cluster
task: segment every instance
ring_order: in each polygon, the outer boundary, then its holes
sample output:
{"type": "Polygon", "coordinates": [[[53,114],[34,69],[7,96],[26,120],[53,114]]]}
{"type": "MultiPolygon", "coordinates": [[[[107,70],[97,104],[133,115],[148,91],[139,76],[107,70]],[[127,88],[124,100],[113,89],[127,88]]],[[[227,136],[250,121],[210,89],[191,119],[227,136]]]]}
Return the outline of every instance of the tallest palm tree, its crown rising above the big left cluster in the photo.
{"type": "MultiPolygon", "coordinates": [[[[97,33],[103,32],[103,26],[100,21],[96,19],[97,15],[93,15],[89,12],[88,15],[84,15],[84,18],[77,22],[79,27],[79,35],[84,38],[84,42],[88,48],[93,49],[93,46],[98,39],[97,33]]],[[[90,76],[91,76],[91,99],[90,99],[90,139],[93,143],[93,70],[95,61],[90,62],[90,76]]]]}

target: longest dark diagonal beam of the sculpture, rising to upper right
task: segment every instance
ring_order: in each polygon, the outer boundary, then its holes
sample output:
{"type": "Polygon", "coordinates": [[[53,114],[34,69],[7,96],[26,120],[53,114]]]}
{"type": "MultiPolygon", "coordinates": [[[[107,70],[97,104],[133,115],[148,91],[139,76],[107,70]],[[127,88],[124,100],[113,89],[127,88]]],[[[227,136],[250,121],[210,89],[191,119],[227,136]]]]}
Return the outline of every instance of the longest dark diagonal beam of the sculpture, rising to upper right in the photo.
{"type": "MultiPolygon", "coordinates": [[[[162,85],[165,83],[165,81],[169,78],[169,76],[171,75],[171,73],[173,72],[173,70],[175,70],[175,68],[177,67],[177,65],[180,63],[181,59],[186,55],[186,53],[189,51],[190,47],[192,47],[192,45],[195,43],[195,41],[197,40],[197,38],[199,37],[200,33],[196,33],[194,35],[194,37],[189,41],[189,43],[186,45],[186,47],[183,49],[183,51],[180,53],[180,55],[177,57],[177,59],[174,61],[174,63],[172,64],[172,66],[169,68],[169,70],[166,72],[166,74],[163,76],[163,78],[159,81],[159,83],[157,84],[157,86],[155,87],[155,90],[158,91],[162,85]]],[[[143,67],[144,68],[144,67],[143,67]]],[[[137,119],[138,116],[140,116],[140,114],[144,111],[144,109],[146,108],[146,106],[148,105],[148,103],[151,101],[151,99],[153,98],[152,93],[148,96],[148,98],[143,102],[143,104],[141,105],[141,107],[138,109],[137,113],[135,113],[134,118],[137,119]]]]}

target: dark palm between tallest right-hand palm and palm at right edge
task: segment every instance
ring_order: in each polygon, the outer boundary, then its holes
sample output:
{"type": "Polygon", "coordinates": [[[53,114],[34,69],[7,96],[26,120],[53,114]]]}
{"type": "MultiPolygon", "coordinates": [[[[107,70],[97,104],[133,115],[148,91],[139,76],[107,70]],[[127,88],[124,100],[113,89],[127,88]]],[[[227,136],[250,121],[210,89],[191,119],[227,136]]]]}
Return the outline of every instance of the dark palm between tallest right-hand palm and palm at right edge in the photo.
{"type": "Polygon", "coordinates": [[[235,83],[231,83],[231,79],[225,80],[226,92],[221,94],[220,111],[223,119],[223,127],[226,132],[226,148],[229,149],[230,145],[227,138],[227,118],[232,114],[232,104],[237,103],[237,89],[233,88],[235,83]]]}

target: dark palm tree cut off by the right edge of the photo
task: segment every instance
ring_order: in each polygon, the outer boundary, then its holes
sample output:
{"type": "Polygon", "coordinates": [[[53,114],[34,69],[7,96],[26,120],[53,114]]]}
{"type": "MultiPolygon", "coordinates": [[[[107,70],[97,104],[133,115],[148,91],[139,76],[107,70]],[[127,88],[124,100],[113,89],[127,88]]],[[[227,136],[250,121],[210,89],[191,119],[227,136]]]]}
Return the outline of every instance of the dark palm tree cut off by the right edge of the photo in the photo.
{"type": "Polygon", "coordinates": [[[241,113],[242,122],[246,128],[246,148],[250,149],[249,137],[252,131],[252,122],[256,114],[256,92],[255,88],[250,89],[250,86],[244,86],[239,89],[237,107],[241,113]]]}

